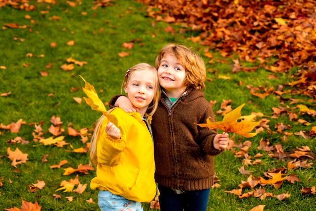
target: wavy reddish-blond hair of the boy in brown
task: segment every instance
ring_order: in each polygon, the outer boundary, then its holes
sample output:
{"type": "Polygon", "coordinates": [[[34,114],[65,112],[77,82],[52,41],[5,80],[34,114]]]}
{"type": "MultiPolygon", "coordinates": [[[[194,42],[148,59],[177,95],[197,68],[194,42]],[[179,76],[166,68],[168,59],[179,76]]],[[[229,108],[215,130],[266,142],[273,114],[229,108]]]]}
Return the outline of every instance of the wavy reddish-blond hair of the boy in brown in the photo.
{"type": "Polygon", "coordinates": [[[175,56],[178,62],[185,68],[186,79],[184,84],[195,89],[205,89],[206,67],[202,57],[190,48],[179,44],[167,44],[156,57],[155,66],[158,69],[165,55],[175,56]]]}

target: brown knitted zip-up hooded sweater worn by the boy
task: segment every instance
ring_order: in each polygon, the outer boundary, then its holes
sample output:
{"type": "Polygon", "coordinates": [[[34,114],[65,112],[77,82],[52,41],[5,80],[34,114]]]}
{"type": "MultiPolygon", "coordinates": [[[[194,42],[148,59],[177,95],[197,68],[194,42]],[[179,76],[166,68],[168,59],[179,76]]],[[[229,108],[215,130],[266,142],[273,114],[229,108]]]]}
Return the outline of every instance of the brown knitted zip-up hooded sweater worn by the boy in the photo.
{"type": "MultiPolygon", "coordinates": [[[[110,101],[110,107],[117,97],[110,101]]],[[[155,181],[163,186],[182,190],[202,190],[213,185],[213,156],[221,153],[213,146],[216,130],[194,123],[206,123],[214,113],[204,93],[189,88],[169,110],[162,94],[152,117],[155,181]]]]}

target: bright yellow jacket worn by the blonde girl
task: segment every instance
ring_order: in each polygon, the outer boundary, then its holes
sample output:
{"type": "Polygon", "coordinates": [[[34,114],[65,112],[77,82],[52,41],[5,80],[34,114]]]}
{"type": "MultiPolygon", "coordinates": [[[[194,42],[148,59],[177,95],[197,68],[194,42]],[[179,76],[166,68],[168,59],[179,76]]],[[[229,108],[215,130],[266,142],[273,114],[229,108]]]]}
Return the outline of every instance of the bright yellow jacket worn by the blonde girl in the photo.
{"type": "Polygon", "coordinates": [[[139,113],[127,114],[120,108],[111,111],[118,119],[121,139],[106,133],[104,118],[97,138],[96,177],[91,189],[109,190],[129,200],[150,202],[159,191],[154,181],[154,156],[151,134],[139,113]]]}

